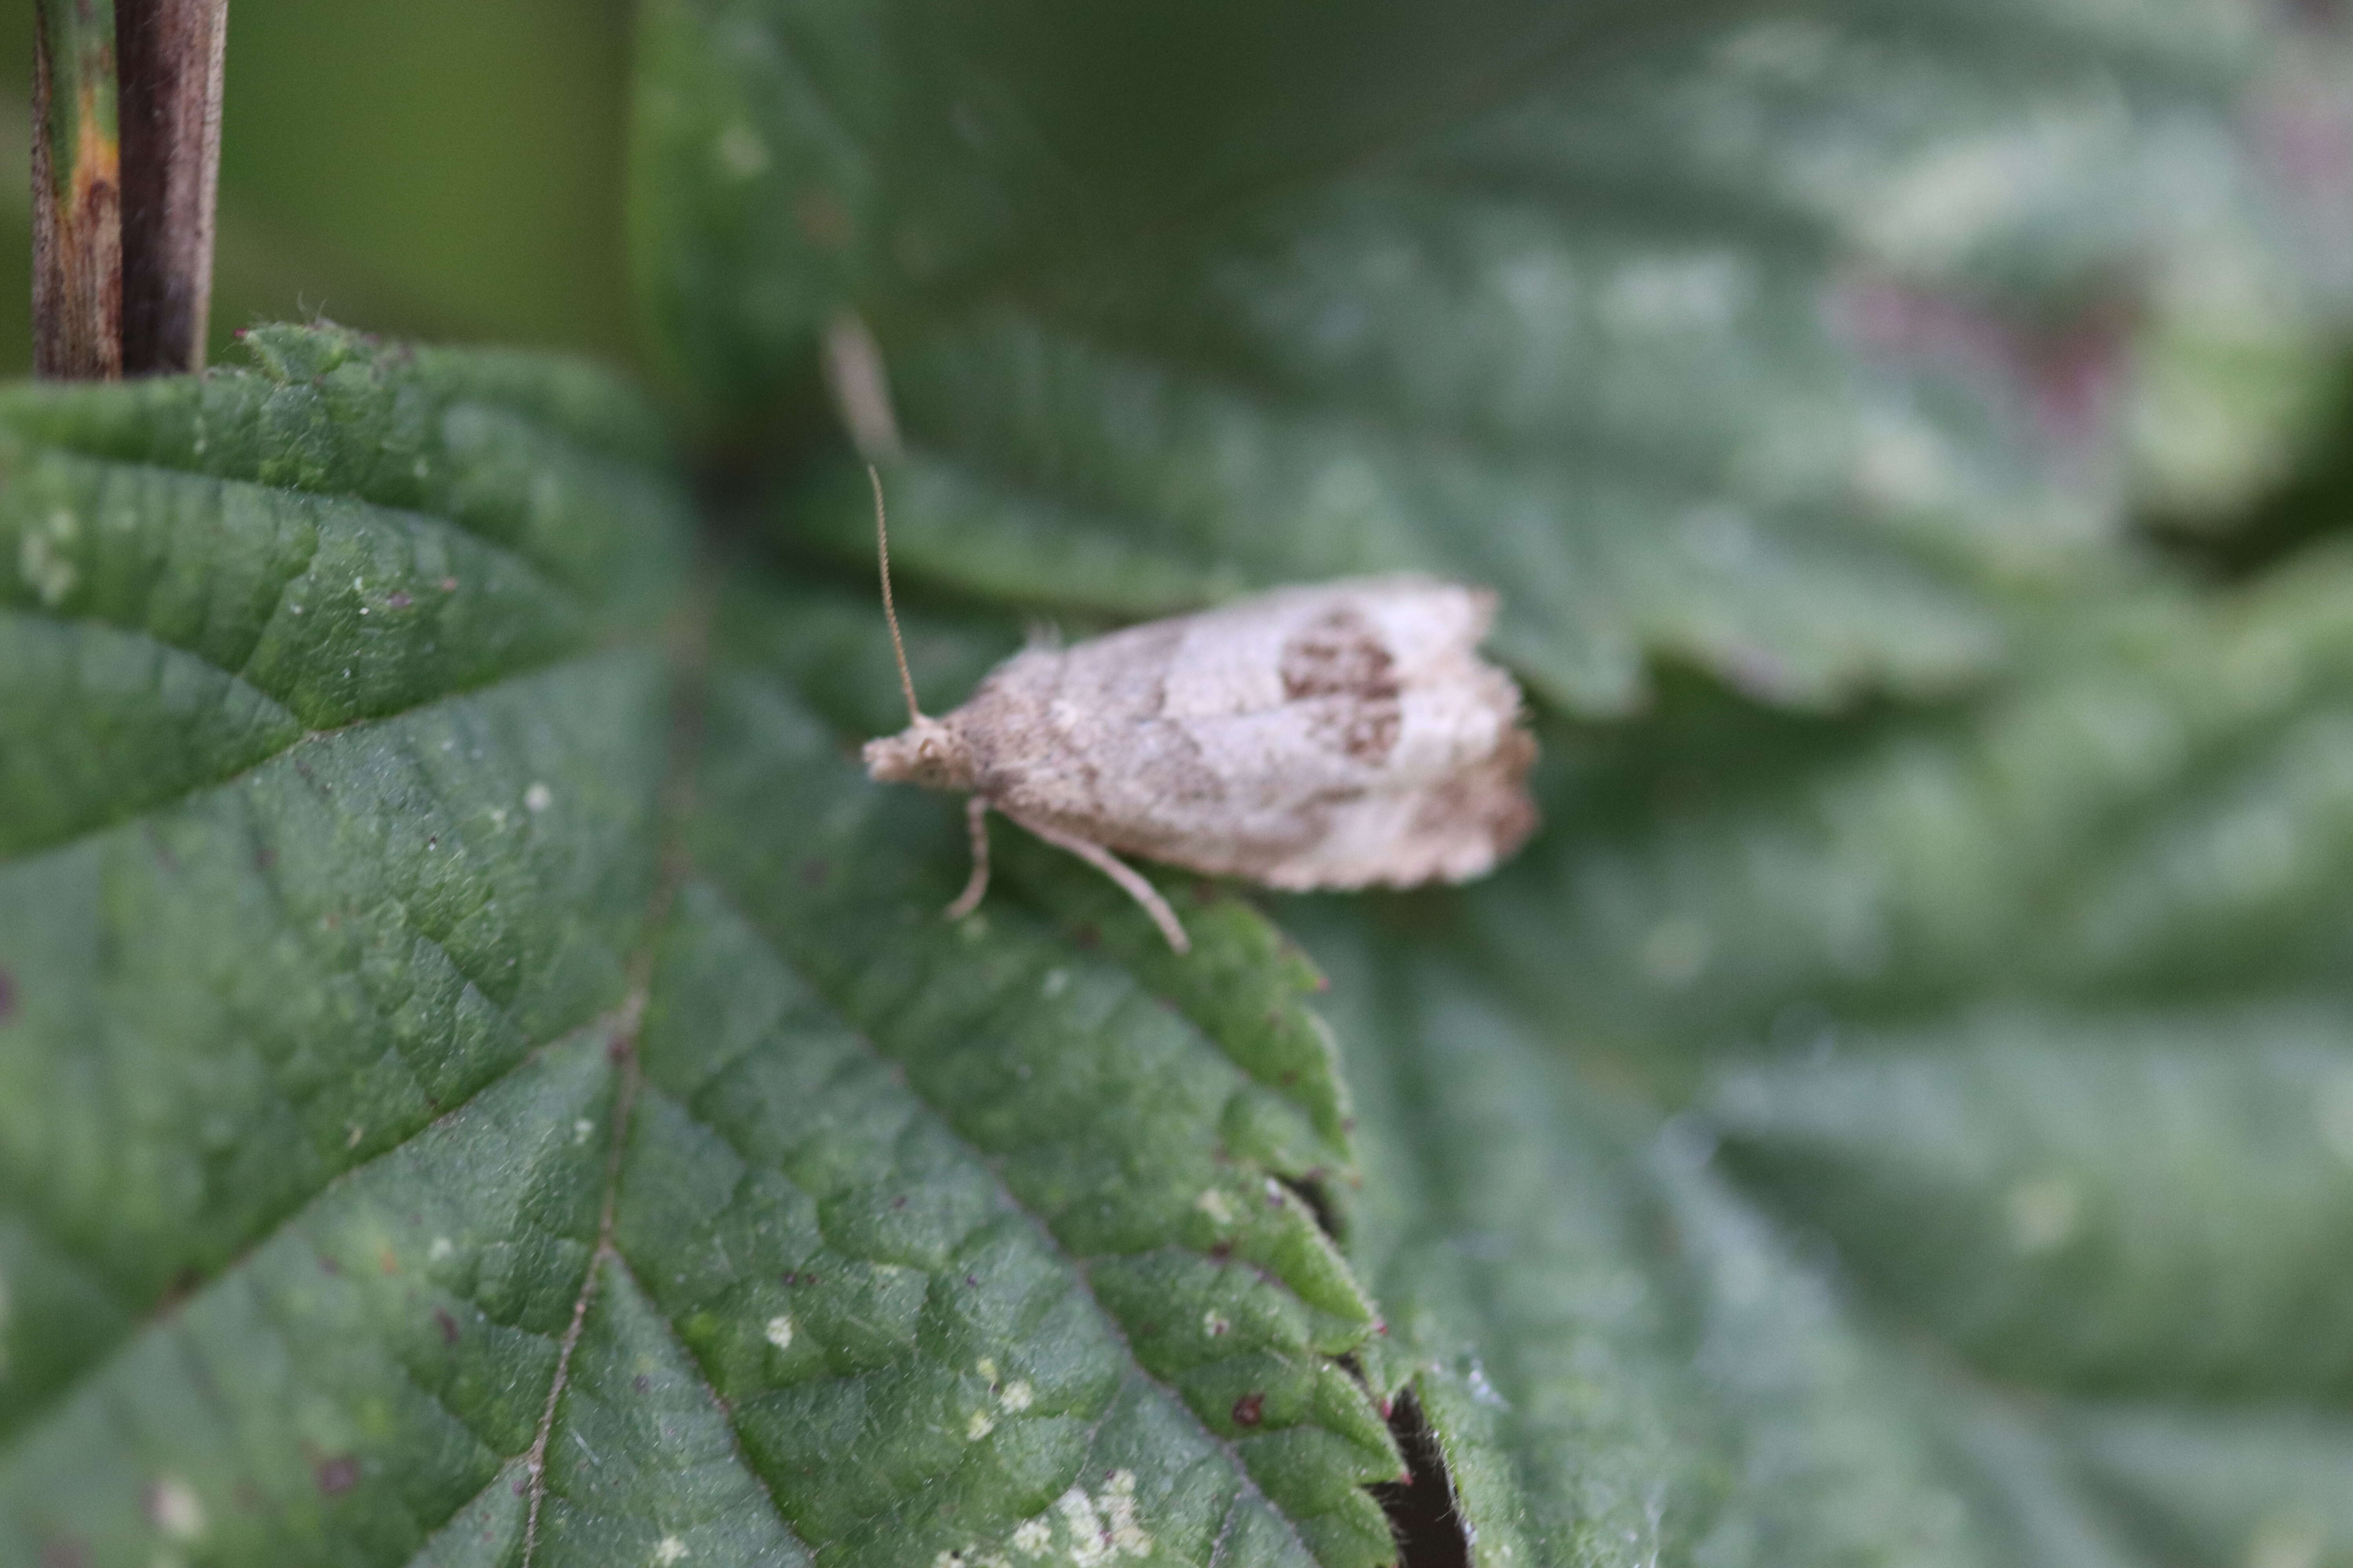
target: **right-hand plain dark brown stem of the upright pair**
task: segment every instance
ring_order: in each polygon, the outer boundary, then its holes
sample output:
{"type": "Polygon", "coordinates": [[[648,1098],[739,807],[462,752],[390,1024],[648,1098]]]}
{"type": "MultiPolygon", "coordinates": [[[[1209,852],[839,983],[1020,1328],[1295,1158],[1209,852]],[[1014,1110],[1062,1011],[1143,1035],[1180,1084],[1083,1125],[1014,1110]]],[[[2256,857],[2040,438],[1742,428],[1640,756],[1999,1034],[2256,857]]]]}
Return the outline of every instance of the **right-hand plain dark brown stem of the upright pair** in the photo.
{"type": "Polygon", "coordinates": [[[228,0],[115,0],[122,371],[205,369],[228,0]]]}

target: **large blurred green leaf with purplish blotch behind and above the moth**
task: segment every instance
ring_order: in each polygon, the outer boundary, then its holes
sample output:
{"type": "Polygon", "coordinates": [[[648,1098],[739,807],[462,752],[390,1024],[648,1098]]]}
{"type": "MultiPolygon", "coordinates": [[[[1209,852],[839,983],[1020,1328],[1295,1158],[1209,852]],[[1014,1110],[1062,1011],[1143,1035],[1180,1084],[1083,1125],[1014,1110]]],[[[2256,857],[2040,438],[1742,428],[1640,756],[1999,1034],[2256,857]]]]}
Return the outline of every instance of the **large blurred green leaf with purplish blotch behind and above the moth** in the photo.
{"type": "MultiPolygon", "coordinates": [[[[1779,703],[1951,689],[2002,658],[2009,585],[2113,550],[2134,393],[2089,388],[2129,343],[2085,299],[2162,275],[2151,343],[2301,341],[2233,122],[2266,40],[2158,7],[1680,21],[666,0],[640,275],[734,411],[800,395],[838,310],[873,324],[911,578],[1144,616],[1424,569],[1504,588],[1499,646],[1581,712],[1654,656],[1779,703]],[[2264,282],[2212,287],[2221,256],[2264,282]]],[[[2172,456],[2195,409],[2207,451],[2292,423],[2172,386],[2193,411],[2141,421],[2172,456]]],[[[854,473],[779,527],[871,552],[854,473]]]]}

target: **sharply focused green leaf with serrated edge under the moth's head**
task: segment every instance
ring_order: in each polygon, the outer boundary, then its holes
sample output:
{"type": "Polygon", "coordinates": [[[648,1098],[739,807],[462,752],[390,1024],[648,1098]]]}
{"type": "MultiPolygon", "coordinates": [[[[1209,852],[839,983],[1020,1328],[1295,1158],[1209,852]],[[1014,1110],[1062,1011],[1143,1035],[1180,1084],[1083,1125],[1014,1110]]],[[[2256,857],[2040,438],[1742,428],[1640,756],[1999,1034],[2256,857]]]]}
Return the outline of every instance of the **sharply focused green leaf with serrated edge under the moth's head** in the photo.
{"type": "Polygon", "coordinates": [[[948,926],[621,390],[254,346],[0,400],[0,1561],[1391,1561],[1304,959],[948,926]]]}

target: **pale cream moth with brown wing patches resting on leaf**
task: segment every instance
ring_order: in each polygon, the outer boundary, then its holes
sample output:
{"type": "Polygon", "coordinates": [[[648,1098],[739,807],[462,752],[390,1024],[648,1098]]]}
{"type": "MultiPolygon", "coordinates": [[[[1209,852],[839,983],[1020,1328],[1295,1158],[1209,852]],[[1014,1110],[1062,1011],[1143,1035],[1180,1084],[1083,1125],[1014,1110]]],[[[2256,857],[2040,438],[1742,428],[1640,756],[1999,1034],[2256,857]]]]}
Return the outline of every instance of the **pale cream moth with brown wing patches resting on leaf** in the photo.
{"type": "Polygon", "coordinates": [[[1120,884],[1176,952],[1176,912],[1118,856],[1273,889],[1414,886],[1482,877],[1534,832],[1520,689],[1478,656],[1492,592],[1424,576],[1278,588],[1024,649],[934,719],[868,477],[908,726],[866,743],[866,773],[969,797],[972,879],[948,917],[988,891],[991,811],[1120,884]]]}

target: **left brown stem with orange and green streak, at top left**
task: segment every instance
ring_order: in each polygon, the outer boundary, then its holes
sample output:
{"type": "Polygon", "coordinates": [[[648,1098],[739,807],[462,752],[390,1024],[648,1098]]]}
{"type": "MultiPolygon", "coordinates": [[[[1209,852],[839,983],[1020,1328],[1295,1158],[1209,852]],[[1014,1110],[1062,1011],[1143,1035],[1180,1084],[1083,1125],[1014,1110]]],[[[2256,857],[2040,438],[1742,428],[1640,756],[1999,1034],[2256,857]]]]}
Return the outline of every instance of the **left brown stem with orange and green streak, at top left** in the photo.
{"type": "Polygon", "coordinates": [[[33,367],[122,374],[113,0],[38,0],[33,49],[33,367]]]}

